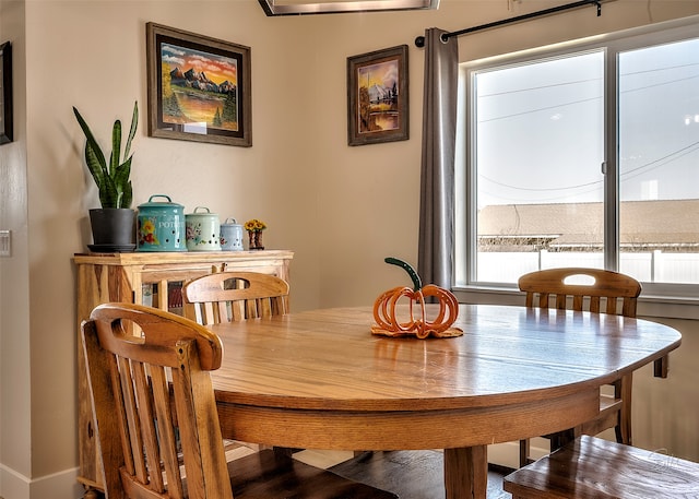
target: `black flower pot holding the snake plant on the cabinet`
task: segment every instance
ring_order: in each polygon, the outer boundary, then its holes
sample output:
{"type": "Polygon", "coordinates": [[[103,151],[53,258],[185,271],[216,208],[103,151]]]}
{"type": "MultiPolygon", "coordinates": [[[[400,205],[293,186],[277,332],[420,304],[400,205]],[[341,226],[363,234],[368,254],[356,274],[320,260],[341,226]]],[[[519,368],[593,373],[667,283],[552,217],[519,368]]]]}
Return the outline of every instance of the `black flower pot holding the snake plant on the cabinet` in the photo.
{"type": "Polygon", "coordinates": [[[97,249],[128,251],[135,248],[135,211],[126,207],[90,210],[92,237],[97,249]]]}

